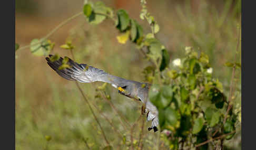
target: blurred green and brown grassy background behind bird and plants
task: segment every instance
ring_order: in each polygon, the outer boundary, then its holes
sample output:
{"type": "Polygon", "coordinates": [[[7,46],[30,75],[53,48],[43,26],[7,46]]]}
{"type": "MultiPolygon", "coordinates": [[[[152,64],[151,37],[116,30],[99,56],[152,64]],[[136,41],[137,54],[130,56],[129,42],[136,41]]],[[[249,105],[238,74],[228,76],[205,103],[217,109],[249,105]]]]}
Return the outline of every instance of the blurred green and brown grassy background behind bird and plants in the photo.
{"type": "MultiPolygon", "coordinates": [[[[143,26],[144,33],[151,32],[146,20],[140,19],[139,0],[103,2],[114,10],[125,9],[131,18],[143,26]]],[[[228,95],[232,70],[225,67],[224,63],[234,59],[241,25],[241,0],[146,2],[148,12],[160,25],[156,38],[165,45],[171,61],[183,57],[186,46],[204,51],[209,55],[213,76],[223,83],[224,92],[228,95]]],[[[83,4],[83,0],[16,0],[16,43],[23,47],[29,45],[34,38],[44,37],[66,18],[82,12],[83,4]]],[[[87,63],[125,79],[143,81],[142,71],[149,63],[132,42],[119,44],[116,39],[118,35],[111,20],[106,19],[94,26],[88,25],[81,15],[49,38],[55,42],[51,54],[71,57],[70,51],[60,48],[67,39],[71,39],[77,62],[87,63]]],[[[239,48],[241,49],[241,43],[239,48]]],[[[45,57],[32,55],[29,48],[18,50],[16,55],[16,149],[86,149],[84,139],[91,149],[103,148],[102,133],[74,82],[58,76],[47,65],[45,57]],[[47,141],[45,136],[51,137],[51,140],[47,141]]],[[[238,61],[241,61],[241,53],[238,56],[238,61]]],[[[238,82],[235,88],[241,90],[241,72],[237,72],[235,78],[238,82]]],[[[95,98],[95,87],[102,83],[81,85],[89,101],[99,106],[101,112],[109,117],[121,134],[130,136],[119,125],[119,118],[109,103],[95,98]]],[[[118,94],[111,85],[107,85],[106,94],[110,95],[117,110],[131,124],[135,122],[140,115],[140,105],[137,102],[118,94]]],[[[241,105],[241,95],[235,102],[241,105]]],[[[122,140],[120,142],[116,138],[111,126],[99,113],[96,115],[111,143],[117,149],[124,149],[122,140]]],[[[145,126],[150,126],[150,122],[145,126]]],[[[146,127],[144,148],[154,149],[157,135],[147,132],[146,127]]],[[[225,148],[241,149],[241,134],[226,142],[225,148]]]]}

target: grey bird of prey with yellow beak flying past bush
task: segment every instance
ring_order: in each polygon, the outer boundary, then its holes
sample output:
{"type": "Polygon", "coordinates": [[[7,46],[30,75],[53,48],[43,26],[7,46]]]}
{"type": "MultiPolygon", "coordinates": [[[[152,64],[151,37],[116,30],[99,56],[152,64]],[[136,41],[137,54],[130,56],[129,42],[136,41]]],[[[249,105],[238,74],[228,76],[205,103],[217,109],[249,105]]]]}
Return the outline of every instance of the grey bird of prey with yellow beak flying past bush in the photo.
{"type": "Polygon", "coordinates": [[[152,125],[148,130],[153,129],[154,132],[158,130],[158,111],[147,97],[151,84],[116,77],[84,63],[78,64],[68,57],[66,65],[69,67],[60,68],[63,65],[63,58],[60,57],[58,60],[53,61],[51,57],[53,56],[49,55],[49,57],[46,57],[48,65],[64,79],[82,83],[92,83],[95,81],[110,83],[113,87],[118,89],[120,94],[131,99],[142,101],[145,104],[147,121],[152,121],[152,125]]]}

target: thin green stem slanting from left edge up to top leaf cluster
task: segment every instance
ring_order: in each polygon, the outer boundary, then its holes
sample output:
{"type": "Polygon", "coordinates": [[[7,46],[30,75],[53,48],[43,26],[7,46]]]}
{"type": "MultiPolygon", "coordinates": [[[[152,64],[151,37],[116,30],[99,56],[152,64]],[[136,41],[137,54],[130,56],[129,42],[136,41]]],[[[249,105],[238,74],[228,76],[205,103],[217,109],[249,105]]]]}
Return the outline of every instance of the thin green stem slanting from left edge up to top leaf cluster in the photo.
{"type": "Polygon", "coordinates": [[[35,42],[33,45],[29,44],[29,45],[23,46],[23,47],[19,48],[19,50],[26,49],[28,47],[40,44],[41,42],[46,40],[48,37],[50,37],[52,34],[54,34],[58,29],[60,29],[62,26],[64,26],[66,23],[68,23],[70,20],[72,20],[72,19],[74,19],[74,18],[76,18],[76,17],[78,17],[82,14],[83,14],[83,12],[80,12],[80,13],[77,13],[77,14],[71,16],[70,18],[67,18],[61,24],[59,24],[57,27],[55,27],[50,33],[48,33],[45,37],[41,38],[41,40],[39,40],[38,42],[35,42]]]}

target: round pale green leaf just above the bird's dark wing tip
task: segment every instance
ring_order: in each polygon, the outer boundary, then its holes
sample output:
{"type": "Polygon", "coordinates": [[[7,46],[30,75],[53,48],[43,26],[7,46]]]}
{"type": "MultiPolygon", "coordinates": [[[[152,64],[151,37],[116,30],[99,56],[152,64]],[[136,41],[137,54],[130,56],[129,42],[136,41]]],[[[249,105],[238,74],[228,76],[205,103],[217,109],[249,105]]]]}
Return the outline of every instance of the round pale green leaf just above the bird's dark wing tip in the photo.
{"type": "Polygon", "coordinates": [[[40,42],[38,39],[33,39],[30,43],[30,51],[35,56],[47,56],[51,49],[50,41],[40,42]]]}

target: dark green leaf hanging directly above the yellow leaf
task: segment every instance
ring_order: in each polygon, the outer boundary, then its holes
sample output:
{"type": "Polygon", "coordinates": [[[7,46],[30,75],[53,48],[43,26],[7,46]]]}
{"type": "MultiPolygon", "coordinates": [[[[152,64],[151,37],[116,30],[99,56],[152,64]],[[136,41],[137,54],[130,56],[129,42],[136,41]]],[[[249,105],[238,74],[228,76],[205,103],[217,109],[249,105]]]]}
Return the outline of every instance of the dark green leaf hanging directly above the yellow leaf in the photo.
{"type": "Polygon", "coordinates": [[[129,15],[126,13],[124,9],[117,10],[118,24],[117,28],[121,31],[124,31],[130,23],[129,15]]]}

